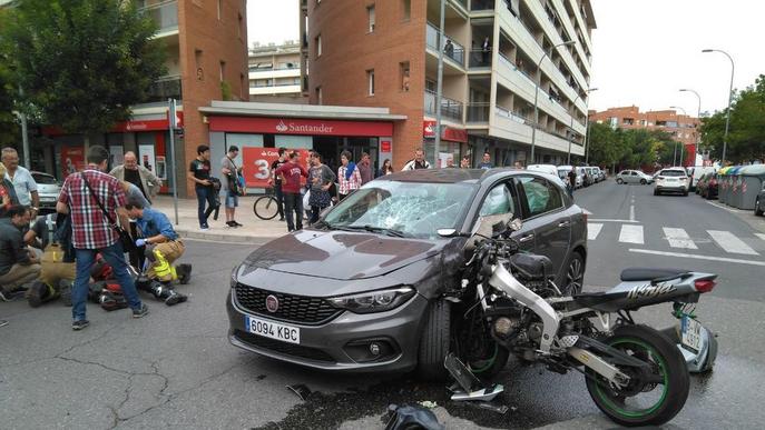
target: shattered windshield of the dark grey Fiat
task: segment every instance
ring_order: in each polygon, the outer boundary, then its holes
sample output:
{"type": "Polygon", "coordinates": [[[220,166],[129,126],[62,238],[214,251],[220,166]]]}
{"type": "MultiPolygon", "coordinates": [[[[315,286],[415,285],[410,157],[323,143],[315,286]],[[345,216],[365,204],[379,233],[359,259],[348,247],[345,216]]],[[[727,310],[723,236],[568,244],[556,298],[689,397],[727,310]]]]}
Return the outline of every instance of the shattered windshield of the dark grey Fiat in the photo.
{"type": "Polygon", "coordinates": [[[458,228],[475,186],[373,181],[341,201],[324,218],[330,229],[391,236],[438,237],[438,229],[458,228]]]}

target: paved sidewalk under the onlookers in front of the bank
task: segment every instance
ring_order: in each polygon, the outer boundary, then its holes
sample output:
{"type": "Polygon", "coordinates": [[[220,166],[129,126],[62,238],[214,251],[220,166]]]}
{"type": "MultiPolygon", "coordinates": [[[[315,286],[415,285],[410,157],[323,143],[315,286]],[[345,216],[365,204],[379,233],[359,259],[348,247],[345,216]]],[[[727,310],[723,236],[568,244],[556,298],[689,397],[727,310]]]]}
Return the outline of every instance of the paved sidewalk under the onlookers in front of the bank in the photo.
{"type": "Polygon", "coordinates": [[[279,221],[278,217],[269,221],[264,221],[253,212],[253,203],[257,196],[239,198],[239,207],[236,208],[236,221],[244,227],[231,228],[226,226],[225,207],[220,206],[217,221],[210,216],[208,220],[209,230],[199,231],[197,219],[197,200],[178,199],[178,224],[175,224],[175,209],[171,196],[158,196],[154,199],[153,208],[164,212],[170,219],[173,227],[184,238],[205,239],[224,242],[253,242],[255,239],[271,240],[287,233],[287,224],[279,221]]]}

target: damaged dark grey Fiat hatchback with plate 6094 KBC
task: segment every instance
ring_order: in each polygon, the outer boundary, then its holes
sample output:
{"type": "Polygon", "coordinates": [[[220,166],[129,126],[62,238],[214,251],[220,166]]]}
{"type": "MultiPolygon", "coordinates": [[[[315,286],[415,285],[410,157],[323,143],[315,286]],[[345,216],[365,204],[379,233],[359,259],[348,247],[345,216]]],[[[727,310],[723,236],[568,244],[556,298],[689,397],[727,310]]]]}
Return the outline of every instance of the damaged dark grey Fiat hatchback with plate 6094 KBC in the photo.
{"type": "Polygon", "coordinates": [[[451,303],[441,293],[460,288],[465,248],[475,240],[467,237],[479,218],[508,212],[523,220],[512,233],[521,249],[551,259],[561,290],[580,291],[587,220],[557,177],[511,169],[398,172],[234,268],[229,341],[324,370],[442,371],[452,343],[444,317],[451,303]]]}

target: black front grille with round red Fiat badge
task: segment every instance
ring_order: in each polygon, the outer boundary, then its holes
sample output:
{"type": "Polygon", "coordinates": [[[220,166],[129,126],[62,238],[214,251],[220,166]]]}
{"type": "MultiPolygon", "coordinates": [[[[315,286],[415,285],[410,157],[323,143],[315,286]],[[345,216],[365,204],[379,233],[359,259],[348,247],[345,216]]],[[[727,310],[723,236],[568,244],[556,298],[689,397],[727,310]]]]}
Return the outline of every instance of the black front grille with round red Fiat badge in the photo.
{"type": "Polygon", "coordinates": [[[317,297],[284,294],[247,287],[242,283],[236,284],[236,301],[241,307],[253,313],[275,320],[308,326],[325,323],[342,313],[341,309],[333,308],[324,299],[317,297]],[[268,296],[274,296],[278,299],[276,312],[269,312],[266,309],[266,297],[268,296]]]}

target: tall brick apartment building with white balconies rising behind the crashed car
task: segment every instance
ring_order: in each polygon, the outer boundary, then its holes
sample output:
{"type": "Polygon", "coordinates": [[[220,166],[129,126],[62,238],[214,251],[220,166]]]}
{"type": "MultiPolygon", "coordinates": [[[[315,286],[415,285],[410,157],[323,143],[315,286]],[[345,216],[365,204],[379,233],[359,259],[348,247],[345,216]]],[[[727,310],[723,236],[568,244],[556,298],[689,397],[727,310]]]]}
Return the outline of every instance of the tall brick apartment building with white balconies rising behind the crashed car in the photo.
{"type": "MultiPolygon", "coordinates": [[[[582,156],[596,27],[589,1],[447,0],[443,41],[439,4],[302,0],[301,67],[311,103],[384,107],[406,117],[393,130],[396,168],[415,148],[440,164],[483,151],[498,166],[531,163],[534,124],[534,162],[565,163],[569,141],[571,154],[582,156]],[[565,41],[573,43],[560,46],[565,41]]],[[[374,144],[366,149],[374,151],[374,144]]]]}

